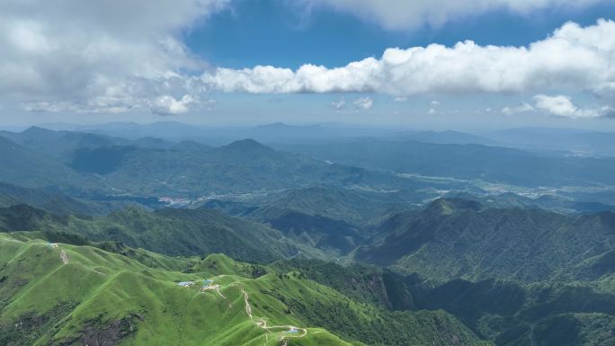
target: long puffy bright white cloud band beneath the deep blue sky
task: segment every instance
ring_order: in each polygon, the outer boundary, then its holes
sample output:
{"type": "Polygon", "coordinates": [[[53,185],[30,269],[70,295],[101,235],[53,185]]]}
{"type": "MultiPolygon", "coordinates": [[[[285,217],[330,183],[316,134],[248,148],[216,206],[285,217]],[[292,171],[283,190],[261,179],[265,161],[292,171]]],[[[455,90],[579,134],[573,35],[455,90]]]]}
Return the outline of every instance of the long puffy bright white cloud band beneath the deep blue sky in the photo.
{"type": "Polygon", "coordinates": [[[566,23],[529,47],[432,44],[387,49],[381,58],[345,67],[218,68],[200,80],[209,89],[246,93],[544,93],[612,85],[614,59],[615,22],[601,20],[588,27],[566,23]]]}

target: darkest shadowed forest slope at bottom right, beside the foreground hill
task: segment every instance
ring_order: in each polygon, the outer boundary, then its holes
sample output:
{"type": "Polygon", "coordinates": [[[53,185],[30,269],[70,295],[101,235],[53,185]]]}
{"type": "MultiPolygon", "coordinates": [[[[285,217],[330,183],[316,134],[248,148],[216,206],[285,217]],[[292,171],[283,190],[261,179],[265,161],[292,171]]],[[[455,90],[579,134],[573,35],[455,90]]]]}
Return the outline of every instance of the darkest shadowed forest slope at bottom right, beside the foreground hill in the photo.
{"type": "Polygon", "coordinates": [[[479,337],[499,346],[615,344],[612,274],[585,281],[554,279],[531,284],[453,279],[433,286],[416,276],[361,265],[292,260],[275,266],[281,271],[301,271],[307,279],[355,301],[388,309],[445,310],[479,337]]]}

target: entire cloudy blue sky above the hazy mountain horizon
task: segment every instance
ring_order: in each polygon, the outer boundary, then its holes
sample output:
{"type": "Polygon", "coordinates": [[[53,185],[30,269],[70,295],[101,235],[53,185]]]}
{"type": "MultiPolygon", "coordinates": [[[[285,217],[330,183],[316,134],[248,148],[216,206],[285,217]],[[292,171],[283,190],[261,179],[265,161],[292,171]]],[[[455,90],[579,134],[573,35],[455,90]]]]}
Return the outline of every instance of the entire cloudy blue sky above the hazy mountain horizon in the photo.
{"type": "Polygon", "coordinates": [[[613,19],[610,0],[10,0],[0,127],[615,130],[613,19]]]}

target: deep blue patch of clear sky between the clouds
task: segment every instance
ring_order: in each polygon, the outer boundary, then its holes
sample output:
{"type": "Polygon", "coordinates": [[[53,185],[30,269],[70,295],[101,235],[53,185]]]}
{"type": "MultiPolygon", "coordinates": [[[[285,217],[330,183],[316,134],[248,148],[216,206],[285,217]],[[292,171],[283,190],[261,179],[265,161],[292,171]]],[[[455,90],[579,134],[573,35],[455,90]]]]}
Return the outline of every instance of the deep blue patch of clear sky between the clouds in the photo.
{"type": "Polygon", "coordinates": [[[424,24],[415,30],[386,30],[376,22],[328,8],[307,14],[280,0],[241,0],[187,31],[185,40],[193,52],[215,66],[297,68],[312,63],[339,67],[378,57],[391,47],[450,46],[460,40],[523,46],[545,39],[565,22],[590,25],[598,18],[615,18],[615,5],[547,8],[521,15],[496,10],[439,27],[424,24]]]}

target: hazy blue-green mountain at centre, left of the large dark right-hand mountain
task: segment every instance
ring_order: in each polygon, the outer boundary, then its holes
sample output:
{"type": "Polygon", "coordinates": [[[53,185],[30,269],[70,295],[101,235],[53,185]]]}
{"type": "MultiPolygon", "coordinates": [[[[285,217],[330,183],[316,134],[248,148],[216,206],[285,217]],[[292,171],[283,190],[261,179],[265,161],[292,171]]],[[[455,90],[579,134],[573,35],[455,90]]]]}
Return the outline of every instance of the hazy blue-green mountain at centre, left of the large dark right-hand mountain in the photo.
{"type": "Polygon", "coordinates": [[[272,226],[316,248],[348,253],[363,244],[379,221],[408,208],[404,197],[400,192],[311,186],[208,200],[204,206],[272,226]]]}

